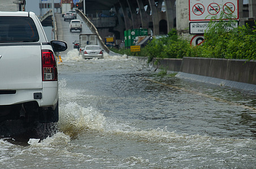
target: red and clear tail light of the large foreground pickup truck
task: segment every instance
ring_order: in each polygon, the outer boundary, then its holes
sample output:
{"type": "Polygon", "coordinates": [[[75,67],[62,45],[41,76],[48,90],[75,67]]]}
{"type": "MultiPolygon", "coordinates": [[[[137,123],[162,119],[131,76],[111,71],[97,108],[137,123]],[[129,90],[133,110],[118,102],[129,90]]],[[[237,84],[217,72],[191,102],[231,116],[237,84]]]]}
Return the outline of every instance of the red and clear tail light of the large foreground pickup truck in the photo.
{"type": "Polygon", "coordinates": [[[51,50],[42,50],[42,81],[58,81],[57,64],[51,50]]]}

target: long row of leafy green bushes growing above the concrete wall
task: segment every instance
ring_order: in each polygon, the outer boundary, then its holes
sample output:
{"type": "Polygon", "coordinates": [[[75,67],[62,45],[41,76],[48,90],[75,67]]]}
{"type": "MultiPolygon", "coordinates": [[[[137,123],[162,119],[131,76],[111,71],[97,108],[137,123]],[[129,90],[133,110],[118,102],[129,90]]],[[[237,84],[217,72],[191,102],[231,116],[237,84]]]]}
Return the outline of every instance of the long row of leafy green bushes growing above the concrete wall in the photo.
{"type": "Polygon", "coordinates": [[[189,41],[181,39],[175,29],[167,37],[154,38],[140,52],[131,52],[130,49],[114,50],[119,54],[132,56],[148,56],[150,62],[158,58],[186,57],[214,57],[224,59],[256,60],[256,28],[248,25],[231,28],[234,16],[220,15],[216,22],[213,17],[209,23],[205,42],[201,46],[190,46],[189,41]]]}

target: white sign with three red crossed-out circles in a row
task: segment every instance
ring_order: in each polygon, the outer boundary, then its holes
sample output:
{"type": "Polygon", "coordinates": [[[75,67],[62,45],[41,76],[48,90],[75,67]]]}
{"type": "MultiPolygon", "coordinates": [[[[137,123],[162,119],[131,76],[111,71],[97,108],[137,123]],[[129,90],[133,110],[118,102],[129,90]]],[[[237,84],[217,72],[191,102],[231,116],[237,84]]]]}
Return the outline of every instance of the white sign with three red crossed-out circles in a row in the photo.
{"type": "Polygon", "coordinates": [[[189,21],[209,21],[221,12],[238,19],[238,0],[189,0],[189,21]]]}

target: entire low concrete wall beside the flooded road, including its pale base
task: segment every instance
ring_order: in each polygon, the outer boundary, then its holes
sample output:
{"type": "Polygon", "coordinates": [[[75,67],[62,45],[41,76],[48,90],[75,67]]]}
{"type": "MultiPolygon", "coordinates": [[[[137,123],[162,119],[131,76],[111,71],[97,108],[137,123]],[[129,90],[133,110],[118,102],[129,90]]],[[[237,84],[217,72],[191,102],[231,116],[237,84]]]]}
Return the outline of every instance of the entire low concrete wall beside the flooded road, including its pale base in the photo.
{"type": "MultiPolygon", "coordinates": [[[[148,57],[128,56],[142,64],[148,57]]],[[[157,59],[150,63],[151,71],[167,69],[177,72],[176,77],[204,83],[229,86],[256,92],[256,61],[184,57],[183,59],[157,59]]]]}

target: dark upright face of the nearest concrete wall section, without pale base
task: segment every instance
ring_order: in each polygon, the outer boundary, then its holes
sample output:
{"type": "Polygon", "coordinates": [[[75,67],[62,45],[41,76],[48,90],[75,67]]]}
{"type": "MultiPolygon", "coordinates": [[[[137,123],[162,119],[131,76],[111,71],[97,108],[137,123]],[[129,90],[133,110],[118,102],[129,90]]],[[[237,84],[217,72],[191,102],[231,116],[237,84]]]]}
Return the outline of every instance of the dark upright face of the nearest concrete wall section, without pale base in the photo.
{"type": "Polygon", "coordinates": [[[184,57],[180,72],[256,84],[256,61],[184,57]]]}

